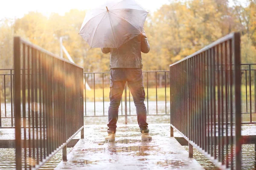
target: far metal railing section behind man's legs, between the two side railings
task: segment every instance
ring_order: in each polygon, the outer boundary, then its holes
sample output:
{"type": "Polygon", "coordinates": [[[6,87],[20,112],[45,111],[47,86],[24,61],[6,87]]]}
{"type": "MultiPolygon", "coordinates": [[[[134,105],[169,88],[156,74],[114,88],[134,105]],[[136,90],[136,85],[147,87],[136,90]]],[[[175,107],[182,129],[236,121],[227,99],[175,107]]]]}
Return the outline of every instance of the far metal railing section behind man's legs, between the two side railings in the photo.
{"type": "MultiPolygon", "coordinates": [[[[109,84],[110,72],[88,72],[84,73],[84,79],[92,87],[88,91],[84,85],[84,116],[108,116],[105,114],[109,105],[109,84]],[[97,87],[96,87],[97,86],[97,87]],[[107,91],[107,92],[106,92],[107,91]],[[90,98],[88,97],[90,92],[90,98]],[[93,93],[92,93],[93,92],[93,93]],[[99,94],[101,93],[101,94],[99,94]],[[97,95],[96,95],[97,94],[97,95]],[[108,102],[107,102],[108,101],[108,102]],[[92,103],[90,103],[92,102],[92,103]],[[100,102],[97,103],[97,102],[100,102]],[[93,104],[93,108],[88,109],[87,105],[93,104]],[[97,105],[98,104],[98,105],[97,105]],[[98,106],[96,109],[96,105],[98,106]],[[99,107],[100,105],[100,107],[99,107]]],[[[169,115],[169,71],[143,71],[145,86],[145,103],[148,115],[169,115]],[[154,93],[154,95],[151,95],[154,93]],[[160,91],[160,96],[159,96],[160,91]],[[161,102],[161,103],[160,103],[161,102]],[[152,107],[151,107],[152,106],[152,107]],[[159,109],[160,106],[160,109],[159,109]]],[[[121,99],[120,116],[136,115],[136,111],[131,111],[132,96],[130,89],[125,85],[124,94],[121,99]]],[[[135,106],[134,106],[135,107],[135,106]]]]}

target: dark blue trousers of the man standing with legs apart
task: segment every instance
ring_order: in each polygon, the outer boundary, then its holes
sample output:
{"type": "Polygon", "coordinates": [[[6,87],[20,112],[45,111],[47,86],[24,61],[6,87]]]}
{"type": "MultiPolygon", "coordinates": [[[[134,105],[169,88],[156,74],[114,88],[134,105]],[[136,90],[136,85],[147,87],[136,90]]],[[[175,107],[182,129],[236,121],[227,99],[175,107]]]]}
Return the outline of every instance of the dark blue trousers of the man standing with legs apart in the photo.
{"type": "Polygon", "coordinates": [[[144,104],[145,90],[141,68],[112,68],[110,71],[110,106],[108,108],[108,132],[116,132],[118,108],[127,82],[134,99],[140,131],[148,133],[147,110],[144,104]]]}

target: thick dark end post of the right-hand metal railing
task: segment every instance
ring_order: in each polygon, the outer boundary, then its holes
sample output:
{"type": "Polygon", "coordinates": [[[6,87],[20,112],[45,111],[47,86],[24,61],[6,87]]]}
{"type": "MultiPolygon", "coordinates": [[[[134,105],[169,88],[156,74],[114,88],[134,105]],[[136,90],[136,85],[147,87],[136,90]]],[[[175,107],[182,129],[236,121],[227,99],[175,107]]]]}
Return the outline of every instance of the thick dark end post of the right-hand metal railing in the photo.
{"type": "Polygon", "coordinates": [[[240,34],[233,37],[234,65],[235,65],[235,142],[236,142],[236,170],[241,170],[241,53],[240,34]]]}

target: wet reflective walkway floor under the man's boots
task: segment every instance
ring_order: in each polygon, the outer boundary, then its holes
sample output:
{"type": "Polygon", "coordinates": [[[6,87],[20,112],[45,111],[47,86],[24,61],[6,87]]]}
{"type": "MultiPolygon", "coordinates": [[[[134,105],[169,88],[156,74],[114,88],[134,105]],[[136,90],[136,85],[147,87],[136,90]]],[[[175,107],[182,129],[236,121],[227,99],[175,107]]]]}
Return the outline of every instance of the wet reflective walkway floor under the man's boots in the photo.
{"type": "Polygon", "coordinates": [[[169,124],[150,124],[149,129],[152,141],[141,141],[138,125],[119,125],[116,141],[105,142],[106,125],[85,126],[84,139],[55,170],[203,169],[175,138],[169,137],[169,124]]]}

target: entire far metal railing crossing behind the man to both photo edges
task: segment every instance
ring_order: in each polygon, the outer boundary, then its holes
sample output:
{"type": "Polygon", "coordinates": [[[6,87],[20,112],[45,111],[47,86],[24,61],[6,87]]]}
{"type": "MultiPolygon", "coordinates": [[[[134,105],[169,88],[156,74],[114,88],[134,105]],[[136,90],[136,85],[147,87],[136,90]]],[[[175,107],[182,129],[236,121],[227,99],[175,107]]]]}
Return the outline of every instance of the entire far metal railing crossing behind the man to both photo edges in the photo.
{"type": "MultiPolygon", "coordinates": [[[[227,71],[228,70],[229,68],[227,68],[227,71]]],[[[215,68],[215,71],[218,70],[215,68]]],[[[225,71],[225,69],[221,70],[220,68],[219,71],[225,71]]],[[[84,79],[91,87],[91,90],[88,90],[84,85],[84,94],[86,94],[86,96],[84,95],[84,116],[108,116],[106,111],[108,110],[109,105],[109,75],[110,72],[84,72],[84,79]],[[95,80],[93,79],[93,74],[95,74],[95,80]],[[105,87],[105,90],[103,89],[103,86],[105,87]],[[95,98],[94,93],[96,93],[95,98]],[[94,105],[99,107],[94,109],[94,105]]],[[[145,104],[148,109],[148,115],[169,115],[170,97],[169,88],[166,88],[169,87],[169,78],[166,78],[169,77],[169,71],[143,71],[143,75],[146,91],[145,104]],[[157,73],[157,81],[155,73],[157,73]]],[[[13,77],[14,69],[0,69],[0,128],[14,128],[13,77]],[[12,86],[10,83],[11,75],[12,86]]],[[[241,80],[241,113],[243,115],[249,115],[243,116],[242,124],[254,124],[256,123],[256,63],[241,64],[241,80]]],[[[127,89],[126,93],[127,115],[134,116],[136,115],[136,111],[129,89],[127,89]]],[[[119,116],[125,116],[125,95],[122,97],[119,116]]]]}

